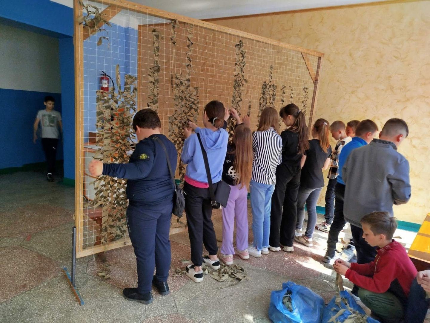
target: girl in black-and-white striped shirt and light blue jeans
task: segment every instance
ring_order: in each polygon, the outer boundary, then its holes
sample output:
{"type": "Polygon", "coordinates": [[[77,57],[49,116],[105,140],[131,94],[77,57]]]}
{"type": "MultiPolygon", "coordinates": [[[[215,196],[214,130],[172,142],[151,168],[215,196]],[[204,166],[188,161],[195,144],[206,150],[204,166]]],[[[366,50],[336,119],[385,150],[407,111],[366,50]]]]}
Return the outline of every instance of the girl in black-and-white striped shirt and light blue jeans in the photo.
{"type": "Polygon", "coordinates": [[[254,241],[249,245],[248,252],[253,257],[269,253],[270,208],[276,183],[276,166],[282,158],[282,139],[277,133],[278,129],[278,112],[272,107],[265,108],[261,112],[258,129],[252,134],[254,160],[249,187],[254,241]]]}

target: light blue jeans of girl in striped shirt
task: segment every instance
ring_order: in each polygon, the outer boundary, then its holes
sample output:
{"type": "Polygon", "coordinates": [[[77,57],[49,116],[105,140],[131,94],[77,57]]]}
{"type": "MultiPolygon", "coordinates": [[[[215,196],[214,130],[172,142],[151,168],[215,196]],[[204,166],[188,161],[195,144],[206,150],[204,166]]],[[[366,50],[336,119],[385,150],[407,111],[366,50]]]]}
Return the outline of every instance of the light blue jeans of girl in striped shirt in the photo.
{"type": "Polygon", "coordinates": [[[269,246],[270,209],[272,207],[272,194],[275,185],[262,184],[251,180],[249,193],[252,208],[252,242],[257,250],[269,246]]]}

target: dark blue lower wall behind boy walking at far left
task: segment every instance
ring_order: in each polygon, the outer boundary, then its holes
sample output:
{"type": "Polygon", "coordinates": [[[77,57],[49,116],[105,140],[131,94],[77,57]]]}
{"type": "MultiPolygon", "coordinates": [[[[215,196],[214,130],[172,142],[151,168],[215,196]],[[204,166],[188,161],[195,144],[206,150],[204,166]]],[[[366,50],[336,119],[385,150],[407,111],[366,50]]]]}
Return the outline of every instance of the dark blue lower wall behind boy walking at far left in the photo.
{"type": "MultiPolygon", "coordinates": [[[[42,143],[33,143],[33,124],[37,111],[45,109],[43,99],[52,95],[55,110],[61,112],[61,94],[0,89],[2,152],[0,168],[21,167],[44,162],[42,143]]],[[[39,136],[38,136],[39,137],[39,136]]],[[[57,160],[63,159],[63,147],[58,144],[57,160]]]]}

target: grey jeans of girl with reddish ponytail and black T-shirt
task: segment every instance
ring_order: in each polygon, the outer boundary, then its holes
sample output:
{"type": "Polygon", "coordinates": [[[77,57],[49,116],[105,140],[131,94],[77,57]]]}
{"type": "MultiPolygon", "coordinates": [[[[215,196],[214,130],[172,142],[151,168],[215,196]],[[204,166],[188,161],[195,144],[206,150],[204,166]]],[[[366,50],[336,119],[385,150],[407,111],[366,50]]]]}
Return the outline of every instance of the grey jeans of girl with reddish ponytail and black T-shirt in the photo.
{"type": "Polygon", "coordinates": [[[309,189],[300,186],[298,189],[298,199],[297,199],[297,229],[303,227],[304,221],[304,205],[307,208],[307,227],[304,235],[307,238],[312,238],[313,231],[316,225],[316,202],[318,202],[319,193],[321,193],[322,187],[317,189],[309,189]]]}

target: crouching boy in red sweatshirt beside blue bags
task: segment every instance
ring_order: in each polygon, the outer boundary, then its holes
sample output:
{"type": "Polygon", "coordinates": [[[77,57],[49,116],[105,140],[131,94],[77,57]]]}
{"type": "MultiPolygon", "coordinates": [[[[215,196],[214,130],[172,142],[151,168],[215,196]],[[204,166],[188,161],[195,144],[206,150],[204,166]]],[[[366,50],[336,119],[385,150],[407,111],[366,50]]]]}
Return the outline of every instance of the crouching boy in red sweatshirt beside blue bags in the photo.
{"type": "Polygon", "coordinates": [[[375,260],[369,264],[335,261],[336,273],[359,286],[359,298],[384,323],[401,322],[405,315],[409,289],[417,270],[405,248],[393,238],[396,218],[388,212],[372,212],[361,220],[363,238],[378,246],[375,260]]]}

